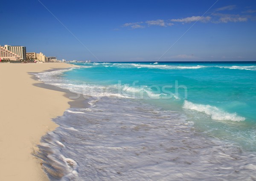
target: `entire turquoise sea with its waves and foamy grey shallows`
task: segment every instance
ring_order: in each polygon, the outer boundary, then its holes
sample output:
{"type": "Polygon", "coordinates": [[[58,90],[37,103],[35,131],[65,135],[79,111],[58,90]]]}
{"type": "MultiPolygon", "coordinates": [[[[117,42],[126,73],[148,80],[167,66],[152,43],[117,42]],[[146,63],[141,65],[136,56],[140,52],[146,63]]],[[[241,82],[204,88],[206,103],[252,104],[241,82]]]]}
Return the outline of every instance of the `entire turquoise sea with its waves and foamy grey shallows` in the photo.
{"type": "Polygon", "coordinates": [[[50,180],[256,180],[256,62],[76,65],[36,74],[89,103],[42,138],[50,180]]]}

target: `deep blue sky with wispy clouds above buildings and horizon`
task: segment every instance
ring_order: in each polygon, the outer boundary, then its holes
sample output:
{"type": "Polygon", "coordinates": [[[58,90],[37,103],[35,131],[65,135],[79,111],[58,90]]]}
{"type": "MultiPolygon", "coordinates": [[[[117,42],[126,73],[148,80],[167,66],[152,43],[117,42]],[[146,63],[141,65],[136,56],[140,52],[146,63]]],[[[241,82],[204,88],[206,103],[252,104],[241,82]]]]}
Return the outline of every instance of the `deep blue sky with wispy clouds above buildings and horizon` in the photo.
{"type": "Polygon", "coordinates": [[[0,45],[26,46],[27,52],[58,59],[256,60],[254,0],[1,3],[0,45]]]}

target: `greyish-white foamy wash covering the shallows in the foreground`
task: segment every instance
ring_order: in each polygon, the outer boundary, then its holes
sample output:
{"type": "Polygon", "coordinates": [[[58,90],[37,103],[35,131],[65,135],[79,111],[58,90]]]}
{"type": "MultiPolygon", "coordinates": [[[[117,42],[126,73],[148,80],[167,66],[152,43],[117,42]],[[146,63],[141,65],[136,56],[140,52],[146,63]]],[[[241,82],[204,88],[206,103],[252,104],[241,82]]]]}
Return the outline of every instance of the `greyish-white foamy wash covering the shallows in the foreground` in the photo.
{"type": "Polygon", "coordinates": [[[193,131],[183,112],[142,101],[102,98],[86,116],[67,112],[55,121],[60,126],[42,140],[49,146],[40,146],[51,181],[251,180],[255,170],[256,157],[236,144],[193,131]]]}

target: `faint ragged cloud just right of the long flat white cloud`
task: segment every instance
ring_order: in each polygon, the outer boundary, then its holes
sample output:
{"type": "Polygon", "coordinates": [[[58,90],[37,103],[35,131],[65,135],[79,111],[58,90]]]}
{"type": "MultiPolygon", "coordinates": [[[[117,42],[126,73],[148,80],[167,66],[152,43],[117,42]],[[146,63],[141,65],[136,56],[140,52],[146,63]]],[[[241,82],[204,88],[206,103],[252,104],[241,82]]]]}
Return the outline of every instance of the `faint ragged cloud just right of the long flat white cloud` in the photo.
{"type": "Polygon", "coordinates": [[[214,16],[219,16],[220,18],[213,23],[228,23],[228,22],[245,22],[248,20],[247,17],[241,17],[239,14],[213,14],[214,16]]]}

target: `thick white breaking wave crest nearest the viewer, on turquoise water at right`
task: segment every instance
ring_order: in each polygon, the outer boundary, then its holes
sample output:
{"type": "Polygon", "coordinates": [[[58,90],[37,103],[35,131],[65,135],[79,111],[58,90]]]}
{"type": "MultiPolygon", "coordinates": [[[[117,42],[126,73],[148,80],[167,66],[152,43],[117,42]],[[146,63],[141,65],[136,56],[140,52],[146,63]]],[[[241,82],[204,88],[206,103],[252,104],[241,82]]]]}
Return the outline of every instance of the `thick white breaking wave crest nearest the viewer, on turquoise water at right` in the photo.
{"type": "Polygon", "coordinates": [[[184,101],[183,108],[191,109],[198,112],[204,112],[206,115],[211,116],[212,119],[220,121],[244,121],[245,118],[237,115],[236,113],[225,112],[221,109],[218,109],[215,106],[204,105],[204,104],[195,104],[189,101],[184,101]]]}

